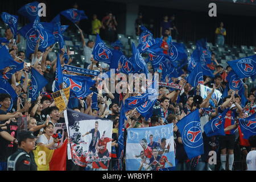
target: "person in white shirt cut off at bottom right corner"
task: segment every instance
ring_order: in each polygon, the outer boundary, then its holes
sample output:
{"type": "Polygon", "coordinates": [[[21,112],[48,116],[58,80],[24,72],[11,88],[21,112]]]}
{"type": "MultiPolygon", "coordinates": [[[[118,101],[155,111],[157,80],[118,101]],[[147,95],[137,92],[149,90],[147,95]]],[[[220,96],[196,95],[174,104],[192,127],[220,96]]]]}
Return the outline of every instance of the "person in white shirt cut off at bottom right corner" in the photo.
{"type": "Polygon", "coordinates": [[[251,151],[246,156],[247,171],[256,171],[256,135],[249,138],[251,151]]]}

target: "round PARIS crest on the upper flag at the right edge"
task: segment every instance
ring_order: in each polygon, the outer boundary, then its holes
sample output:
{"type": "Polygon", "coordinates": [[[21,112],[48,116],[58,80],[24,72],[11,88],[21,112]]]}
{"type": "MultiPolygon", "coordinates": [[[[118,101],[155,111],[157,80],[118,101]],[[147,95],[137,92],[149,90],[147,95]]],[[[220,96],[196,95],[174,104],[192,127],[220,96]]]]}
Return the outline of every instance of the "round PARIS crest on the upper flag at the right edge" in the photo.
{"type": "Polygon", "coordinates": [[[252,59],[242,59],[237,62],[237,67],[246,77],[254,75],[256,73],[256,69],[253,68],[253,64],[255,65],[256,62],[252,59]]]}

